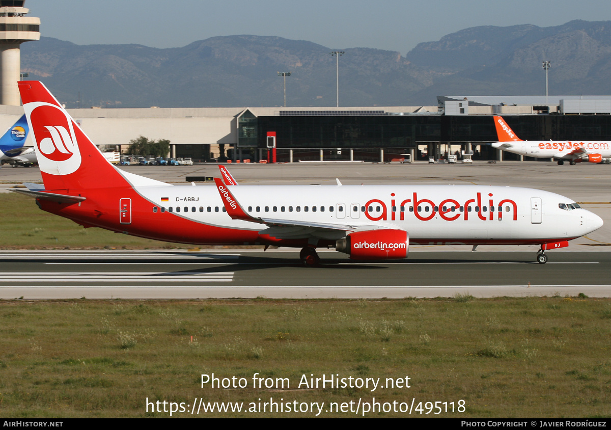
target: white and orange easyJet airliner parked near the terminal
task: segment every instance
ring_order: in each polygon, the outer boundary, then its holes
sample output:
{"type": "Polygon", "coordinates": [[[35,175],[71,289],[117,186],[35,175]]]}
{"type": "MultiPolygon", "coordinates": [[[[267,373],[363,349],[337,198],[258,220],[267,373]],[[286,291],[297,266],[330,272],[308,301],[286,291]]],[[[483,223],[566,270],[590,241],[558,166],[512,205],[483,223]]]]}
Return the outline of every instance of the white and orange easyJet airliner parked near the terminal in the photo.
{"type": "Polygon", "coordinates": [[[600,163],[603,157],[611,157],[611,142],[528,141],[518,138],[501,116],[494,117],[494,125],[496,125],[499,141],[493,143],[492,146],[507,152],[513,152],[513,154],[535,158],[556,158],[560,166],[565,161],[573,166],[575,163],[581,163],[582,161],[600,163]]]}

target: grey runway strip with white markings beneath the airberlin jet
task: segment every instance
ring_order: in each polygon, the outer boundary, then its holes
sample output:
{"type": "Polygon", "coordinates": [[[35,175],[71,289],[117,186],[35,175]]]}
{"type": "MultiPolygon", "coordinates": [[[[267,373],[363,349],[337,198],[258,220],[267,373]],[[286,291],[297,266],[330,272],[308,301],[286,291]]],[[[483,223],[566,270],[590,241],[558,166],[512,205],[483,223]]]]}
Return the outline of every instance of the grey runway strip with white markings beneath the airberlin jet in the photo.
{"type": "Polygon", "coordinates": [[[0,251],[0,298],[402,298],[525,295],[610,297],[611,253],[416,251],[354,262],[297,251],[0,251]]]}

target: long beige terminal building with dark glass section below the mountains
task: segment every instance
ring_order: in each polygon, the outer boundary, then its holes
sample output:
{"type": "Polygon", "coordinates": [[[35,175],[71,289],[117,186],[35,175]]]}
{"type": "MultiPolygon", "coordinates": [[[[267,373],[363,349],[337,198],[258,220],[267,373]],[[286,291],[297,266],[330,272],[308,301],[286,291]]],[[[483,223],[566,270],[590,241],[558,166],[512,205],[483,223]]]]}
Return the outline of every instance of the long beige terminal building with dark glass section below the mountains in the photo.
{"type": "MultiPolygon", "coordinates": [[[[126,154],[131,139],[169,139],[170,157],[196,161],[267,160],[276,133],[277,161],[523,160],[489,146],[492,116],[521,139],[611,141],[611,96],[439,96],[432,106],[352,108],[68,109],[101,149],[126,154]]],[[[20,106],[0,106],[10,127],[20,106]]],[[[142,154],[144,155],[144,154],[142,154]]],[[[532,159],[534,160],[534,159],[532,159]]]]}

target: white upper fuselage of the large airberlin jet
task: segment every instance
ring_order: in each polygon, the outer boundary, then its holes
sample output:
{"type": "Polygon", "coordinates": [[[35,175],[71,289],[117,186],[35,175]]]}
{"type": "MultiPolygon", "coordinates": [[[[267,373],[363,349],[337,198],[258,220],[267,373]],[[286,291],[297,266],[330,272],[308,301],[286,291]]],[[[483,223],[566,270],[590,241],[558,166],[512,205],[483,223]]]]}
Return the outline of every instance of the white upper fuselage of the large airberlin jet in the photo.
{"type": "MultiPolygon", "coordinates": [[[[232,220],[216,187],[136,187],[158,206],[195,223],[258,231],[278,239],[336,240],[346,231],[308,233],[303,227],[267,228],[232,220]],[[164,201],[162,201],[164,199],[164,201]],[[167,199],[167,200],[166,200],[167,199]],[[309,235],[309,236],[308,236],[309,235]]],[[[346,225],[348,229],[391,228],[409,233],[414,243],[543,243],[574,239],[602,226],[585,209],[566,209],[571,199],[530,188],[478,185],[240,185],[230,187],[252,217],[346,225]],[[562,208],[565,209],[562,209],[562,208]]],[[[156,213],[142,214],[155,224],[156,213]]],[[[134,220],[136,221],[136,220],[134,220]]],[[[125,226],[128,229],[128,226],[125,226]]]]}

